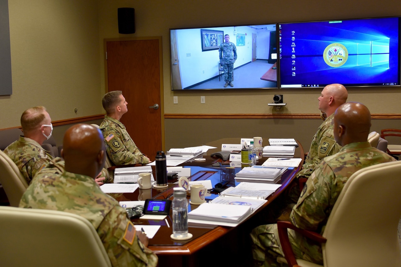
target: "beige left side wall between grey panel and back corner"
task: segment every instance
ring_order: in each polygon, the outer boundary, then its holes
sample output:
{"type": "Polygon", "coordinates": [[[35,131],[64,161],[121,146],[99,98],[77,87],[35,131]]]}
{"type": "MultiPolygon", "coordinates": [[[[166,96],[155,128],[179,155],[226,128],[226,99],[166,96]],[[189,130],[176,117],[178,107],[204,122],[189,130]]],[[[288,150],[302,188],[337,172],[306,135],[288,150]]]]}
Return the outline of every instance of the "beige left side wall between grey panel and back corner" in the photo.
{"type": "Polygon", "coordinates": [[[0,128],[37,105],[52,120],[103,113],[97,0],[9,0],[8,9],[13,91],[0,96],[0,128]]]}

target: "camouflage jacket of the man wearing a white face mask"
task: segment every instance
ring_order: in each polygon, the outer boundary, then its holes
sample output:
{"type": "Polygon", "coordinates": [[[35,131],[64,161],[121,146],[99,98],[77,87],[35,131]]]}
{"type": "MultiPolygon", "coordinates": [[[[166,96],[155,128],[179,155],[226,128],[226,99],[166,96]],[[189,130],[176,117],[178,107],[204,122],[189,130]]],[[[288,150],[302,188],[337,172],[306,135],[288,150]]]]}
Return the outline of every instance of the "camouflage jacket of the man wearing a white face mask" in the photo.
{"type": "Polygon", "coordinates": [[[36,173],[53,159],[38,142],[23,136],[20,136],[17,141],[6,147],[4,153],[20,169],[28,185],[36,173]]]}

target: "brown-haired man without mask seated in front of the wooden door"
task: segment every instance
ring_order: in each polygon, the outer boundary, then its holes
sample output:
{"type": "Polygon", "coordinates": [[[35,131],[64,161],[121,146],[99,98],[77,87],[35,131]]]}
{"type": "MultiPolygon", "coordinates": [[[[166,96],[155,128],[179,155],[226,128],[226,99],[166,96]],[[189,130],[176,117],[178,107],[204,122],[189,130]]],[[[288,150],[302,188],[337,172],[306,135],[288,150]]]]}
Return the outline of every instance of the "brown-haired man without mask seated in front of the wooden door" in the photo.
{"type": "Polygon", "coordinates": [[[114,165],[146,164],[150,160],[142,154],[128,134],[124,124],[119,120],[127,109],[127,102],[122,91],[111,91],[103,96],[103,108],[106,114],[100,124],[103,133],[106,151],[114,165]]]}

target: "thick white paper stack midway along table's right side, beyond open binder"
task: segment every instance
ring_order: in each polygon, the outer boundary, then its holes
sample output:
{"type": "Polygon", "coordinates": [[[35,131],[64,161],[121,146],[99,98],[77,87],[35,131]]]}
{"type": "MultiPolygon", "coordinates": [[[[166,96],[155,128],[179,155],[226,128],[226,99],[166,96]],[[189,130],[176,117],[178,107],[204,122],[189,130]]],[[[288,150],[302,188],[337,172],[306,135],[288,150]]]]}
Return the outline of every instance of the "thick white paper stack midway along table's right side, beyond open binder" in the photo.
{"type": "Polygon", "coordinates": [[[281,179],[281,169],[245,167],[235,175],[235,181],[254,183],[277,183],[281,179]]]}

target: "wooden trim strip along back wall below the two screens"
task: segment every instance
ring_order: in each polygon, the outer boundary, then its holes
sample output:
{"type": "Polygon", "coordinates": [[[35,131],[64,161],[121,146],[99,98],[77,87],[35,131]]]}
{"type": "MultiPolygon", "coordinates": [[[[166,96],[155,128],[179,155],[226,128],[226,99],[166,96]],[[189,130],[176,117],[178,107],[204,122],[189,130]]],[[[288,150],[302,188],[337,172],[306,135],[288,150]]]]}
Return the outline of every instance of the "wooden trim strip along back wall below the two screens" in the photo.
{"type": "MultiPolygon", "coordinates": [[[[401,114],[371,114],[372,119],[399,119],[401,114]]],[[[319,114],[164,114],[164,118],[320,118],[319,114]]]]}

